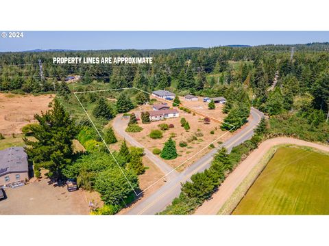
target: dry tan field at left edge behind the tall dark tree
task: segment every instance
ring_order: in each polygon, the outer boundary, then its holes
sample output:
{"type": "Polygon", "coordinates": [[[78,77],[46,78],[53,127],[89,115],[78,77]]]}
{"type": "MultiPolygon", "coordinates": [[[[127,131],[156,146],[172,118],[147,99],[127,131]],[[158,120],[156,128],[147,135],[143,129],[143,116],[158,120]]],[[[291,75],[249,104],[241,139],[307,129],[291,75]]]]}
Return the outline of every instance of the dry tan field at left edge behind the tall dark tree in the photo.
{"type": "Polygon", "coordinates": [[[53,95],[0,94],[0,133],[22,133],[26,124],[35,122],[34,115],[49,110],[53,95]]]}

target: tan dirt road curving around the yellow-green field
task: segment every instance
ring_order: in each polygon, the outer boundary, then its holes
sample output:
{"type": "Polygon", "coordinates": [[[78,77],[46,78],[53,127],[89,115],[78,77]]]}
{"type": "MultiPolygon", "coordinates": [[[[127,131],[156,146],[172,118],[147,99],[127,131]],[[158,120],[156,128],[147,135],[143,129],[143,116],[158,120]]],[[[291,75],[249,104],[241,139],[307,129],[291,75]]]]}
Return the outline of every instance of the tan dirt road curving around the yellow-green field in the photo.
{"type": "Polygon", "coordinates": [[[300,139],[293,139],[291,137],[276,137],[273,139],[268,139],[263,143],[260,143],[260,146],[258,146],[256,150],[249,154],[249,156],[243,162],[241,162],[239,166],[236,167],[236,169],[234,169],[234,171],[221,184],[219,190],[214,195],[212,195],[212,199],[204,202],[204,204],[202,204],[202,206],[200,206],[195,211],[195,215],[217,215],[223,204],[225,204],[225,202],[234,193],[235,189],[239,187],[241,182],[247,177],[254,166],[257,165],[257,163],[263,158],[269,149],[280,144],[308,146],[329,152],[328,146],[323,146],[317,143],[310,143],[300,139]]]}

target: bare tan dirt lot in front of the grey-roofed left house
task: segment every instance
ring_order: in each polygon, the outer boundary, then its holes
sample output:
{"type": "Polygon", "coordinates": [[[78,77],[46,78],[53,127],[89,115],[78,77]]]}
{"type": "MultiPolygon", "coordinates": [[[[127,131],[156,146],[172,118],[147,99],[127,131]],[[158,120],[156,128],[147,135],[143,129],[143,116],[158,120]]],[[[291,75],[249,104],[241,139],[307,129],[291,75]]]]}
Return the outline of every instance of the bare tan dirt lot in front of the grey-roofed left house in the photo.
{"type": "Polygon", "coordinates": [[[5,189],[7,199],[0,201],[0,215],[88,215],[84,191],[68,192],[54,187],[49,179],[31,182],[23,187],[5,189]]]}

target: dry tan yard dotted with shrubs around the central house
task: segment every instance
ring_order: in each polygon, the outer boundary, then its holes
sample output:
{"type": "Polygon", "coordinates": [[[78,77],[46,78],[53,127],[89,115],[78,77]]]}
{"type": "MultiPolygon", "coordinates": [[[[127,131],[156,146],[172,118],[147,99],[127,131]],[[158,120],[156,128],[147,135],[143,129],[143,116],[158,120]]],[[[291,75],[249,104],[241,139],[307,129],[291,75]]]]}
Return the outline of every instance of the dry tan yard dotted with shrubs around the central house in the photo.
{"type": "MultiPolygon", "coordinates": [[[[168,103],[169,104],[169,103],[168,103]]],[[[209,110],[208,107],[206,108],[204,102],[197,101],[197,102],[182,102],[183,105],[186,105],[187,107],[191,107],[192,109],[195,109],[197,111],[200,111],[201,113],[211,115],[213,118],[217,118],[218,120],[223,120],[223,113],[221,113],[221,107],[223,105],[217,105],[217,109],[215,110],[209,110]]],[[[169,104],[169,106],[171,106],[169,104]]],[[[176,109],[178,109],[176,107],[176,109]]],[[[151,105],[143,105],[139,107],[138,109],[133,110],[136,116],[138,118],[141,118],[141,111],[149,111],[152,110],[151,105]]],[[[150,124],[143,124],[139,122],[139,125],[143,127],[143,131],[140,133],[129,133],[136,141],[141,143],[145,148],[152,151],[154,148],[158,148],[162,150],[164,143],[170,138],[173,137],[173,140],[176,142],[176,148],[178,152],[178,157],[173,160],[163,160],[164,162],[171,165],[171,167],[178,167],[181,163],[186,161],[186,159],[191,158],[194,156],[199,150],[202,150],[202,148],[208,146],[210,143],[218,139],[221,135],[220,139],[218,141],[223,142],[226,139],[228,139],[230,136],[232,136],[232,133],[227,133],[227,131],[221,131],[220,126],[221,123],[214,122],[213,120],[210,121],[209,124],[204,124],[203,119],[204,117],[200,115],[193,115],[193,113],[186,113],[185,111],[182,111],[178,109],[180,113],[179,118],[169,118],[166,120],[151,122],[150,124]],[[185,118],[186,121],[189,123],[191,129],[186,131],[184,128],[180,125],[180,120],[182,118],[185,118]],[[163,137],[160,139],[151,139],[149,137],[149,134],[152,130],[160,129],[158,127],[159,124],[173,124],[173,128],[169,128],[167,131],[162,131],[163,137]],[[210,131],[214,131],[214,134],[210,134],[210,131]],[[226,134],[227,133],[227,134],[226,134]],[[199,134],[199,137],[193,141],[189,141],[188,139],[191,138],[193,135],[199,134]],[[225,134],[225,135],[224,135],[225,134]],[[180,147],[179,143],[180,141],[186,141],[188,146],[186,147],[180,147]]],[[[219,146],[218,141],[215,141],[213,144],[215,147],[219,146]]],[[[201,157],[202,155],[206,154],[210,148],[206,148],[203,152],[200,152],[198,156],[193,157],[191,161],[186,163],[184,167],[190,165],[195,161],[195,159],[201,157]]]]}

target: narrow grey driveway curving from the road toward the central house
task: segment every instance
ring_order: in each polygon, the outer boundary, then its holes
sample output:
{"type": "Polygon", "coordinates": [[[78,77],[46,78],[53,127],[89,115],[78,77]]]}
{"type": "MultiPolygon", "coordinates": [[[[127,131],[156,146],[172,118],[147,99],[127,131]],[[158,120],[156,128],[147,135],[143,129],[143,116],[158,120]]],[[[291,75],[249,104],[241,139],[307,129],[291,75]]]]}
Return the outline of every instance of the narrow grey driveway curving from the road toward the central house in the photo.
{"type": "Polygon", "coordinates": [[[178,176],[178,172],[176,172],[173,167],[162,161],[158,156],[153,154],[151,151],[147,150],[141,143],[136,141],[133,137],[125,132],[125,128],[127,128],[128,120],[123,120],[122,115],[118,115],[113,122],[114,131],[116,131],[121,137],[123,137],[126,141],[128,141],[132,146],[144,148],[145,155],[151,160],[157,167],[160,168],[163,174],[170,174],[166,177],[168,180],[175,178],[178,176]]]}

